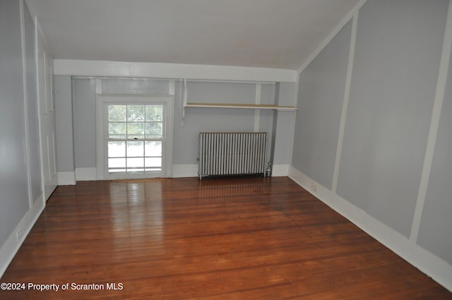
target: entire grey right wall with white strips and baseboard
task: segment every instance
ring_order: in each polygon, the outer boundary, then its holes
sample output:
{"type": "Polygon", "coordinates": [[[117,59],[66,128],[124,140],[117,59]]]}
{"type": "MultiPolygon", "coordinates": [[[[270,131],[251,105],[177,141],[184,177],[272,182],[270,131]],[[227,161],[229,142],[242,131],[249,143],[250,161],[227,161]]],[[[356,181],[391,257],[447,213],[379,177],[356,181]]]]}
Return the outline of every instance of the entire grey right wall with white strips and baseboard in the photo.
{"type": "Polygon", "coordinates": [[[300,70],[290,176],[452,290],[449,6],[360,2],[300,70]]]}

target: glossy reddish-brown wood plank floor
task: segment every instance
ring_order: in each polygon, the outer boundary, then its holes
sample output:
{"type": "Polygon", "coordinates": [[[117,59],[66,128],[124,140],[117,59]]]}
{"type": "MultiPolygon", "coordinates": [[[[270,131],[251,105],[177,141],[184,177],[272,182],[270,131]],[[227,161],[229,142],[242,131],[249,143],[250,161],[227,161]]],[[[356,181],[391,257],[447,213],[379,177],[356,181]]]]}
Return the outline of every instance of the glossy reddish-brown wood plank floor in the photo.
{"type": "Polygon", "coordinates": [[[452,299],[287,177],[59,186],[0,282],[26,284],[0,299],[452,299]]]}

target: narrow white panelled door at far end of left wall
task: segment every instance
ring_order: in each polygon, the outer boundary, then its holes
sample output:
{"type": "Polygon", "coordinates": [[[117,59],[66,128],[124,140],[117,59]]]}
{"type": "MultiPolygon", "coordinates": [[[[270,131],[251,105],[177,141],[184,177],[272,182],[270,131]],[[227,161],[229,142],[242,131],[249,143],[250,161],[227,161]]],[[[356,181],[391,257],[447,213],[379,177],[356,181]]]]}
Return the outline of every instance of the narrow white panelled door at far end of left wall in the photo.
{"type": "Polygon", "coordinates": [[[47,54],[40,35],[37,35],[37,88],[39,103],[40,146],[44,200],[58,184],[55,152],[55,112],[52,83],[52,60],[47,54]]]}

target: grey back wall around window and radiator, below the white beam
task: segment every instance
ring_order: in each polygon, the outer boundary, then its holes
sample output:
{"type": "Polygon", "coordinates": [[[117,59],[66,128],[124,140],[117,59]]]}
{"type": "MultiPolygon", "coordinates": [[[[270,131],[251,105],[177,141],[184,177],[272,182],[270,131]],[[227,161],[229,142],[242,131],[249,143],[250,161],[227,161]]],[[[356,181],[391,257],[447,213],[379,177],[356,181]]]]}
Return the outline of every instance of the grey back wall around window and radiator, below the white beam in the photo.
{"type": "MultiPolygon", "coordinates": [[[[275,95],[275,86],[275,83],[256,84],[249,81],[188,80],[187,100],[238,104],[254,104],[259,101],[262,104],[273,104],[278,98],[281,105],[293,105],[295,83],[281,83],[278,97],[275,95]]],[[[274,134],[279,137],[275,147],[274,175],[288,174],[292,140],[287,132],[293,131],[293,112],[278,112],[280,118],[277,121],[272,111],[190,107],[185,109],[182,120],[184,87],[181,79],[56,76],[55,90],[56,110],[61,114],[57,116],[59,184],[74,184],[76,180],[98,178],[95,174],[96,93],[174,94],[174,177],[197,176],[198,133],[202,131],[266,131],[269,149],[274,134]]],[[[268,158],[270,159],[270,151],[268,158]]]]}

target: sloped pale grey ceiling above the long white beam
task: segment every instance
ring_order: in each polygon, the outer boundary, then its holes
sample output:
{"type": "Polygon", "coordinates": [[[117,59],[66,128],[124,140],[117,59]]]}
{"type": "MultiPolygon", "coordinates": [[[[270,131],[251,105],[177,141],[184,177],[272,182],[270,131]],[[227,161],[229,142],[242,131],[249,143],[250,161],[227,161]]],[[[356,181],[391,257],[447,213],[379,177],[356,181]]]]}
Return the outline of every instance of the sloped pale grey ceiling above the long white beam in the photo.
{"type": "Polygon", "coordinates": [[[54,59],[297,70],[358,0],[27,0],[54,59]]]}

